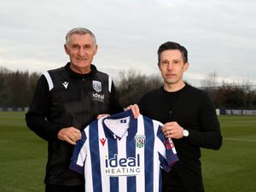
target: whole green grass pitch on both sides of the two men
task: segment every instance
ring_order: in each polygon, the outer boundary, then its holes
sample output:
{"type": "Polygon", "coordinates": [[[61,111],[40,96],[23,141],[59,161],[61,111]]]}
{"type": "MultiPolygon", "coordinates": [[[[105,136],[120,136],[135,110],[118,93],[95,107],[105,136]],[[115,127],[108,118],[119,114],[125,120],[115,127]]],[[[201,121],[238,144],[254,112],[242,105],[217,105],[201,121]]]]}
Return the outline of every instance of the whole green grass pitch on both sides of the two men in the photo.
{"type": "MultiPolygon", "coordinates": [[[[26,127],[25,113],[0,112],[0,192],[44,191],[47,143],[26,127]]],[[[206,192],[256,191],[256,116],[219,116],[224,143],[202,149],[206,192]]]]}

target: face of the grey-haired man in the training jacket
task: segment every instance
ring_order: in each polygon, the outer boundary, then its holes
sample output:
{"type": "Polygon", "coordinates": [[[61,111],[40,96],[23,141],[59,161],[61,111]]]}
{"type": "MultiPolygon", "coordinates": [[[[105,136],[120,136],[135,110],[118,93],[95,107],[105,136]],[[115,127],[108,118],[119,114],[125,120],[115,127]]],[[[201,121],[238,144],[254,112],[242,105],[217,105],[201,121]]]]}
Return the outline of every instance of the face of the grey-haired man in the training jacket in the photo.
{"type": "Polygon", "coordinates": [[[72,34],[65,44],[65,51],[70,57],[71,68],[79,73],[89,73],[93,56],[96,55],[97,45],[89,34],[72,34]]]}

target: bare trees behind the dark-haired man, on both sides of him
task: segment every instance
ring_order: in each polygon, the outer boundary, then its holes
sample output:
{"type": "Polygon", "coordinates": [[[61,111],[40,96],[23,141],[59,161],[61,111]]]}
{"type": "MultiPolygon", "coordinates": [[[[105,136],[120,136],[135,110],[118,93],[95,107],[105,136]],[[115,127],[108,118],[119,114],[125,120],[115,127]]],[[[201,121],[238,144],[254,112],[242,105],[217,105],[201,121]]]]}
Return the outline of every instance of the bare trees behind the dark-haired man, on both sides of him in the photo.
{"type": "MultiPolygon", "coordinates": [[[[256,109],[256,91],[248,82],[243,84],[225,82],[218,85],[216,72],[207,74],[201,80],[201,90],[207,91],[211,96],[216,108],[224,109],[256,109]]],[[[189,84],[189,82],[186,82],[189,84]]],[[[120,102],[123,106],[137,103],[148,90],[162,86],[160,75],[146,76],[136,71],[121,72],[117,90],[120,94],[120,102]]],[[[191,84],[193,85],[193,84],[191,84]]]]}

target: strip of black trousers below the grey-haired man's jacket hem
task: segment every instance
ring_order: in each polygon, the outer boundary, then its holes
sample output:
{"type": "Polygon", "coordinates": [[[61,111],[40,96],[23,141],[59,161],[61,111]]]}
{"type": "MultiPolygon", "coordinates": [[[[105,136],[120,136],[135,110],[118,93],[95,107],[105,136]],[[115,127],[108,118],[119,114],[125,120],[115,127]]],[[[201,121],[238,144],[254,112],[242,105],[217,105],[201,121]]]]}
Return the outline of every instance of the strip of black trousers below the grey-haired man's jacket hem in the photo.
{"type": "Polygon", "coordinates": [[[84,192],[83,185],[66,186],[66,185],[55,185],[45,184],[45,192],[84,192]]]}

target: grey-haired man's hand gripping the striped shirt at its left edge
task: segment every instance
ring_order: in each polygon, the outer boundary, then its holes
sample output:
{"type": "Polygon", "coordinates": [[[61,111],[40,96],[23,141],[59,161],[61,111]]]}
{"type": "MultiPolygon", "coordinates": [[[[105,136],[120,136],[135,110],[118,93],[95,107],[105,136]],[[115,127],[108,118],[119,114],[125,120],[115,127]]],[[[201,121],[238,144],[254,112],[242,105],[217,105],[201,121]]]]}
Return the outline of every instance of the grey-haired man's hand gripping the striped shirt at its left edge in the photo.
{"type": "Polygon", "coordinates": [[[79,129],[71,126],[61,129],[58,132],[58,138],[61,141],[66,141],[67,143],[75,145],[77,141],[82,138],[82,133],[79,129]]]}

